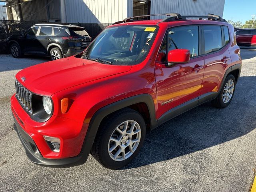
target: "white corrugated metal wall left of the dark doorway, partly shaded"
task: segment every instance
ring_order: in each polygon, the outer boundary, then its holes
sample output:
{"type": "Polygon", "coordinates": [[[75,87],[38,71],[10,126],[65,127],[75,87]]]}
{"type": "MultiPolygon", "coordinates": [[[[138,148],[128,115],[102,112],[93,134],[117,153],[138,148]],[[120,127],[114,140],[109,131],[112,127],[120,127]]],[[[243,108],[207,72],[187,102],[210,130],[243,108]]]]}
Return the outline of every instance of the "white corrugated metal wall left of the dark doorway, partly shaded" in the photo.
{"type": "Polygon", "coordinates": [[[66,0],[66,22],[114,23],[127,17],[130,0],[66,0]]]}

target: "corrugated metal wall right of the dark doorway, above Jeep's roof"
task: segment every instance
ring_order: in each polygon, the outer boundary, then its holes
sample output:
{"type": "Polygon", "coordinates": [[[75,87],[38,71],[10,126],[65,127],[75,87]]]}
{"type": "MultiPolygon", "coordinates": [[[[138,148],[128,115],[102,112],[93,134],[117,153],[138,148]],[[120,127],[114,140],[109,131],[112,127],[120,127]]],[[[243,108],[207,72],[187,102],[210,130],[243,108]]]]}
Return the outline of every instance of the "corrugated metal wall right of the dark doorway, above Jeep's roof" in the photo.
{"type": "MultiPolygon", "coordinates": [[[[151,14],[176,12],[181,15],[223,16],[225,0],[151,0],[151,14]]],[[[165,16],[154,16],[161,19],[165,16]]],[[[152,17],[153,18],[153,17],[152,17]]]]}

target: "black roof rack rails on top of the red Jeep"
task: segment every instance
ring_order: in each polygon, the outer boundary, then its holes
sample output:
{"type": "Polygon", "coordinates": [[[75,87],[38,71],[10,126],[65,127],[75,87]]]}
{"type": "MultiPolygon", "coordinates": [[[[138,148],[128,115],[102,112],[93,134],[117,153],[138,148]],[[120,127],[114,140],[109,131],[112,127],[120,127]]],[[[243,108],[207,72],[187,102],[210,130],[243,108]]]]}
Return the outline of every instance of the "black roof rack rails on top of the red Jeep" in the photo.
{"type": "Polygon", "coordinates": [[[222,22],[227,22],[225,19],[221,18],[218,15],[214,14],[208,14],[208,15],[180,15],[178,13],[162,13],[162,14],[151,14],[151,15],[141,15],[141,16],[134,16],[134,17],[128,17],[125,18],[122,21],[117,21],[114,24],[119,24],[119,23],[126,23],[126,22],[131,22],[131,21],[136,21],[134,18],[144,18],[144,17],[149,17],[149,16],[158,16],[158,15],[166,15],[170,17],[166,17],[162,20],[162,22],[169,22],[169,21],[175,21],[175,20],[186,20],[186,18],[199,18],[199,20],[202,20],[203,18],[206,18],[208,20],[215,20],[215,21],[222,21],[222,22]]]}

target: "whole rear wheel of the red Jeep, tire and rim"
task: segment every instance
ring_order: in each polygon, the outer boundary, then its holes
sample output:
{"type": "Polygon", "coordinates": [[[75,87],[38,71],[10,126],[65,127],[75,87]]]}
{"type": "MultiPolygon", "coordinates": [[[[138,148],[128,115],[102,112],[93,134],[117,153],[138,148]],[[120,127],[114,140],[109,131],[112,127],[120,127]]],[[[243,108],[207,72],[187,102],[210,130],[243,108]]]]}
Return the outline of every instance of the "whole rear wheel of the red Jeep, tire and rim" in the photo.
{"type": "Polygon", "coordinates": [[[236,88],[236,79],[232,74],[228,74],[226,77],[223,87],[220,90],[220,94],[214,100],[212,105],[217,108],[225,108],[228,106],[234,96],[236,88]]]}

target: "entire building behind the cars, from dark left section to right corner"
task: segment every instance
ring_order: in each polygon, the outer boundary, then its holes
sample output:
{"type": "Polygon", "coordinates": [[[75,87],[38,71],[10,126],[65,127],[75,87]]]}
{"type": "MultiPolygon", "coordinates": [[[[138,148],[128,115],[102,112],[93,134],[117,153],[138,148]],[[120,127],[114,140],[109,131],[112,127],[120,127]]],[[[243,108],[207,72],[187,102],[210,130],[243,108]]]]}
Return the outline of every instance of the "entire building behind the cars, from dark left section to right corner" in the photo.
{"type": "Polygon", "coordinates": [[[211,13],[222,17],[225,4],[225,0],[4,0],[4,2],[7,3],[10,20],[66,23],[114,23],[130,16],[170,12],[182,15],[211,13]]]}

